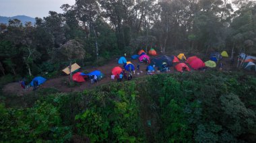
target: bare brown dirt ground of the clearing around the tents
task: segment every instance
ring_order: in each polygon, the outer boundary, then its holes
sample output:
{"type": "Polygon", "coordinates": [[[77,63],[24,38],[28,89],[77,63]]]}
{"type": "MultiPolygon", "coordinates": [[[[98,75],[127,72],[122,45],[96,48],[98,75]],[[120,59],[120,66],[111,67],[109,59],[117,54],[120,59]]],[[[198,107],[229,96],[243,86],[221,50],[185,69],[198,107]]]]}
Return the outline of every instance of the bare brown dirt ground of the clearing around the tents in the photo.
{"type": "MultiPolygon", "coordinates": [[[[201,54],[201,55],[194,54],[194,55],[196,55],[198,57],[204,56],[203,54],[201,54]]],[[[189,56],[191,56],[191,55],[189,55],[189,56]]],[[[189,57],[189,56],[187,56],[187,57],[189,57]]],[[[147,66],[146,64],[139,62],[139,60],[131,60],[131,58],[127,58],[127,60],[130,60],[134,64],[135,68],[136,68],[137,64],[139,63],[140,70],[143,71],[143,73],[140,73],[140,75],[137,75],[137,70],[136,70],[136,74],[133,75],[133,77],[136,78],[136,77],[141,77],[141,76],[146,75],[146,66],[147,66]]],[[[68,92],[74,92],[74,91],[84,91],[84,89],[92,89],[93,87],[97,87],[99,85],[103,85],[106,83],[117,82],[117,81],[111,81],[111,79],[110,79],[111,70],[115,66],[120,66],[121,68],[123,68],[122,64],[117,64],[117,61],[118,61],[118,59],[114,59],[114,60],[110,60],[110,62],[108,62],[107,64],[104,64],[104,66],[98,66],[98,67],[89,67],[88,66],[88,67],[82,68],[82,71],[86,70],[88,72],[92,72],[94,70],[100,70],[104,74],[104,78],[102,80],[100,80],[98,83],[91,84],[90,81],[86,81],[84,83],[77,83],[78,85],[76,85],[75,87],[68,87],[65,84],[65,81],[69,81],[69,75],[67,75],[67,76],[61,76],[61,77],[58,77],[55,79],[49,79],[43,85],[41,85],[39,87],[39,89],[55,88],[61,92],[68,93],[68,92]]],[[[222,58],[221,62],[223,64],[223,70],[226,70],[226,71],[236,70],[236,68],[235,68],[236,62],[234,62],[233,66],[231,66],[229,58],[222,58]]],[[[218,66],[216,68],[218,68],[218,66]]],[[[170,67],[170,73],[176,73],[176,72],[177,71],[174,70],[174,66],[170,67]]],[[[13,94],[13,95],[26,95],[26,94],[32,92],[32,87],[29,87],[28,89],[22,89],[20,87],[20,83],[18,83],[18,82],[9,83],[3,87],[3,92],[8,93],[8,94],[13,94]]]]}

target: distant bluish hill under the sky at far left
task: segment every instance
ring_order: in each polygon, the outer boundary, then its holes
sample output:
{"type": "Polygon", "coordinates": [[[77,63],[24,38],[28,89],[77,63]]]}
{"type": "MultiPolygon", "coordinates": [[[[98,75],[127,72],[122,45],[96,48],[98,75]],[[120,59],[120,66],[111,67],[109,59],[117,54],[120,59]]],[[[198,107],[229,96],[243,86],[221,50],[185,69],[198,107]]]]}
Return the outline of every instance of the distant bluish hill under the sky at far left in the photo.
{"type": "Polygon", "coordinates": [[[26,15],[17,15],[13,17],[4,17],[0,16],[0,23],[8,23],[9,19],[19,19],[22,21],[23,24],[25,24],[28,21],[31,21],[33,24],[36,23],[36,20],[33,17],[28,17],[26,15]]]}

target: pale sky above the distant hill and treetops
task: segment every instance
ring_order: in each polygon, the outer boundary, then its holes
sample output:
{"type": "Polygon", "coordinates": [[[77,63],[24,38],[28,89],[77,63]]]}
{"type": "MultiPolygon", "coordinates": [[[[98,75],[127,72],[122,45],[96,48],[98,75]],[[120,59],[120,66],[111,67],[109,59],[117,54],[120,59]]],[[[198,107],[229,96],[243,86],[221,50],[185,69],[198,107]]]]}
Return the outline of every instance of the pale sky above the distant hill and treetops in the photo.
{"type": "Polygon", "coordinates": [[[49,11],[63,13],[63,4],[74,5],[75,0],[0,0],[0,16],[26,15],[46,17],[49,11]]]}

